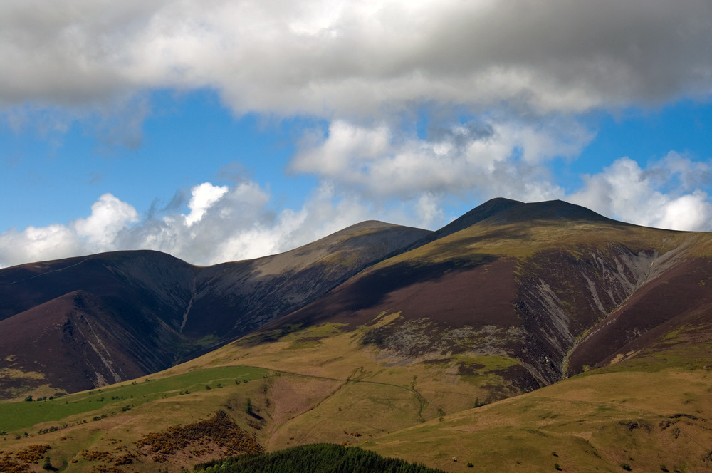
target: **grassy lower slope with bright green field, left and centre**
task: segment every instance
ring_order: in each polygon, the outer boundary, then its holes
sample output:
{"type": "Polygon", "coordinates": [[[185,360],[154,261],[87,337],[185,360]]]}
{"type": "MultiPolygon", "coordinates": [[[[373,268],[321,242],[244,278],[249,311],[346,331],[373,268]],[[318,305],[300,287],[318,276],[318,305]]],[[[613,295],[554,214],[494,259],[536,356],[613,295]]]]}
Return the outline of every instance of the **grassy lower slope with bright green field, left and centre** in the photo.
{"type": "MultiPolygon", "coordinates": [[[[397,317],[397,313],[375,317],[373,323],[397,317]]],[[[66,463],[68,471],[90,471],[99,463],[82,459],[82,449],[103,452],[122,447],[122,452],[135,452],[132,442],[148,432],[202,420],[219,409],[271,450],[313,442],[365,444],[473,407],[488,393],[481,385],[498,382],[488,371],[513,363],[506,357],[465,356],[478,370],[464,377],[450,362],[400,366],[393,364],[398,360],[380,359],[378,353],[362,348],[359,338],[365,330],[347,332],[326,325],[293,331],[258,346],[247,338],[135,384],[56,400],[0,403],[0,431],[7,431],[0,437],[4,439],[0,450],[51,445],[49,454],[56,466],[66,463]],[[248,399],[263,420],[244,412],[248,399]],[[130,410],[122,410],[125,406],[130,410]],[[61,429],[38,433],[53,426],[61,429]],[[72,463],[73,459],[79,461],[72,463]]],[[[125,471],[155,471],[159,466],[149,457],[140,459],[142,463],[125,471]]],[[[209,455],[183,454],[160,466],[178,469],[205,459],[209,455]]]]}

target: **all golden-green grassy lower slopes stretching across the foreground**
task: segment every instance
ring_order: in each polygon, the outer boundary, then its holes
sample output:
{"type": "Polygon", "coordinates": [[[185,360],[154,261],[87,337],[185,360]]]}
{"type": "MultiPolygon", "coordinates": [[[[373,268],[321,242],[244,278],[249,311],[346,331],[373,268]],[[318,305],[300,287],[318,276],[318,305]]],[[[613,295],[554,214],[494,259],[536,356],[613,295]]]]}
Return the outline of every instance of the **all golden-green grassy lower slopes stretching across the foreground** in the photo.
{"type": "MultiPolygon", "coordinates": [[[[663,471],[661,465],[670,472],[707,471],[712,467],[706,460],[712,449],[711,333],[710,327],[676,330],[637,358],[471,409],[476,377],[473,382],[432,363],[389,366],[392,360],[379,360],[360,347],[358,331],[321,326],[259,348],[246,339],[148,381],[101,393],[2,403],[0,430],[9,435],[0,450],[51,445],[55,466],[67,462],[67,471],[90,471],[101,462],[82,459],[82,449],[132,452],[132,442],[148,432],[224,409],[270,450],[347,442],[446,471],[473,471],[468,462],[493,472],[551,472],[555,464],[577,472],[619,472],[622,464],[644,472],[663,471]],[[248,398],[263,421],[244,412],[248,398]],[[122,412],[125,405],[132,408],[122,412]],[[102,414],[107,417],[91,420],[102,414]],[[37,433],[83,420],[88,422],[37,433]],[[23,431],[31,436],[14,440],[23,431]]],[[[482,356],[474,362],[496,366],[506,360],[482,356]]],[[[141,463],[120,471],[177,471],[210,456],[184,453],[167,464],[139,458],[141,463]]]]}

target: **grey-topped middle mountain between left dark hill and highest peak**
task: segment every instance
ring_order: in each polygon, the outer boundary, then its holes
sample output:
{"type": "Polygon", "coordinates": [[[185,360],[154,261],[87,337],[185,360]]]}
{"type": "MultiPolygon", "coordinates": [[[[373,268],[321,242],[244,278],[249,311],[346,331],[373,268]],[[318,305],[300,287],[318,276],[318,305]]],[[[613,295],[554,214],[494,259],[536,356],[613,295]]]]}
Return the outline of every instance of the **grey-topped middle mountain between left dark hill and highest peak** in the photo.
{"type": "Polygon", "coordinates": [[[365,266],[429,233],[362,222],[283,254],[202,269],[184,333],[244,335],[314,301],[365,266]]]}

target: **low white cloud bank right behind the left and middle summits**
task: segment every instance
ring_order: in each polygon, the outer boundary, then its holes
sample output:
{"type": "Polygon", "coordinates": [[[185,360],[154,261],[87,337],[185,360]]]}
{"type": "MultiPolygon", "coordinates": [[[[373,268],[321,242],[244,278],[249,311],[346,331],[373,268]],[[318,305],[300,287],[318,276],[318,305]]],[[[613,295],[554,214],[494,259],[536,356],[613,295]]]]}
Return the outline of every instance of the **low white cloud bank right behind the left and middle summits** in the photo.
{"type": "MultiPolygon", "coordinates": [[[[216,264],[288,251],[374,217],[354,197],[319,187],[300,209],[274,212],[255,182],[234,187],[204,182],[191,189],[187,214],[170,207],[139,221],[127,202],[102,195],[91,214],[68,224],[0,234],[0,267],[118,249],[155,249],[192,264],[216,264]]],[[[404,219],[399,212],[382,217],[404,219]]]]}

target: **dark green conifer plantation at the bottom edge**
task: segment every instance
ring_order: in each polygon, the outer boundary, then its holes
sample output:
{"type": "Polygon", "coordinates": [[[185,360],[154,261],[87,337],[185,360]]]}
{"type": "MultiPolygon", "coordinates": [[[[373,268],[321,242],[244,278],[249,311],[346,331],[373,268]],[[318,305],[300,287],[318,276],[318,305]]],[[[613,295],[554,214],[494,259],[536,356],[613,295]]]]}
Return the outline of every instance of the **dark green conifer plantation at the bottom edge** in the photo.
{"type": "Polygon", "coordinates": [[[359,447],[314,444],[278,452],[245,454],[198,464],[204,473],[444,473],[394,458],[384,458],[359,447]]]}

